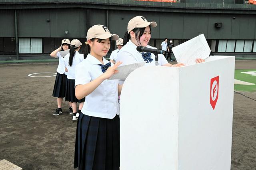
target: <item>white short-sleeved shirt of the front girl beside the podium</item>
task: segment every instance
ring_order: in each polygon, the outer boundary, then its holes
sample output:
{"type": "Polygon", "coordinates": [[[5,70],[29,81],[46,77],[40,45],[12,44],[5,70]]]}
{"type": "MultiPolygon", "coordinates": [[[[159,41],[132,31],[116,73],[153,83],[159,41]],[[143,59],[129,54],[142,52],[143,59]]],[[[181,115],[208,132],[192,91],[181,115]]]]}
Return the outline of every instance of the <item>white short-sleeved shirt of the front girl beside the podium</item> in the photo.
{"type": "MultiPolygon", "coordinates": [[[[104,59],[103,63],[109,63],[104,59]]],[[[88,54],[87,58],[76,66],[76,85],[90,83],[100,75],[102,64],[98,59],[88,54]]],[[[111,65],[113,65],[111,63],[111,65]]],[[[113,119],[119,115],[118,80],[104,80],[92,93],[86,96],[82,113],[93,117],[113,119]]]]}

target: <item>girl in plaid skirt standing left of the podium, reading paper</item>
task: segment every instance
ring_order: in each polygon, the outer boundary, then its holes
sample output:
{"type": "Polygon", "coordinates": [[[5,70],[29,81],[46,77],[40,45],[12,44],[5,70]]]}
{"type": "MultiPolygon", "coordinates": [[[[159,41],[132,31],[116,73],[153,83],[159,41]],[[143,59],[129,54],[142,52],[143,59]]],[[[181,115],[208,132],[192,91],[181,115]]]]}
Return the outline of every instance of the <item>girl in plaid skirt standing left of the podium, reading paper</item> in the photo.
{"type": "Polygon", "coordinates": [[[87,57],[76,66],[76,97],[85,99],[78,117],[74,168],[79,170],[119,170],[120,120],[118,117],[118,93],[122,85],[118,80],[107,80],[121,62],[106,60],[111,40],[119,36],[111,34],[103,25],[94,25],[87,32],[87,57]]]}

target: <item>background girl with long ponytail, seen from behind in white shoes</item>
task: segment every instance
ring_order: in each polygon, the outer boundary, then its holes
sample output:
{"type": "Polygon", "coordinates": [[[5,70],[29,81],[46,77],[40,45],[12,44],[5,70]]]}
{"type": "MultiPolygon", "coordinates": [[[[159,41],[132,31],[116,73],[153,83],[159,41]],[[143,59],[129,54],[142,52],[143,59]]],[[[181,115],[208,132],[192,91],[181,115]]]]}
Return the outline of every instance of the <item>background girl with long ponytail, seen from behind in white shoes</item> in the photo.
{"type": "Polygon", "coordinates": [[[84,105],[85,99],[77,99],[75,96],[75,67],[78,63],[84,60],[84,55],[80,55],[78,52],[82,43],[74,39],[71,41],[71,47],[69,53],[65,56],[65,69],[68,72],[67,76],[67,85],[66,85],[66,98],[65,101],[69,101],[72,103],[73,109],[73,121],[78,119],[79,114],[81,113],[81,109],[84,105]],[[76,109],[76,103],[79,103],[78,111],[76,109]]]}

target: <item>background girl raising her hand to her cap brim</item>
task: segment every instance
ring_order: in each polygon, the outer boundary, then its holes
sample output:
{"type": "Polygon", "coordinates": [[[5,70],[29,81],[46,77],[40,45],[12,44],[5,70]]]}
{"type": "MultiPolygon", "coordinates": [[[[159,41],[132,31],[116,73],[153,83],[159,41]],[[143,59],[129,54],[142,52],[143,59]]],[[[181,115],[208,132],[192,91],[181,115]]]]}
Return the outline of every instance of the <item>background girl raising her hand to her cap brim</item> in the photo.
{"type": "MultiPolygon", "coordinates": [[[[66,79],[67,79],[67,72],[65,71],[65,63],[64,63],[64,57],[60,55],[59,51],[64,51],[70,49],[70,41],[68,39],[63,39],[61,42],[61,45],[56,50],[52,51],[50,53],[51,57],[59,58],[59,65],[57,68],[57,75],[54,83],[54,88],[52,92],[53,97],[57,97],[57,105],[58,109],[56,109],[54,116],[58,116],[62,113],[62,100],[63,97],[65,97],[65,91],[66,91],[66,79]]],[[[69,103],[69,113],[73,114],[72,111],[72,105],[69,103]]]]}

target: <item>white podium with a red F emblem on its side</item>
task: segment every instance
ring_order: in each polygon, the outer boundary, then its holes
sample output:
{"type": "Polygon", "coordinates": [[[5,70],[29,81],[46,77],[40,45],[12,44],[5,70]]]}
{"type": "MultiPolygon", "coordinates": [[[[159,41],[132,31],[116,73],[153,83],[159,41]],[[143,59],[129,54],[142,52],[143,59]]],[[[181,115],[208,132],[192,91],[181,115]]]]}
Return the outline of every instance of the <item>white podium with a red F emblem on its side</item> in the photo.
{"type": "Polygon", "coordinates": [[[121,94],[120,170],[230,170],[234,61],[133,71],[121,94]]]}

